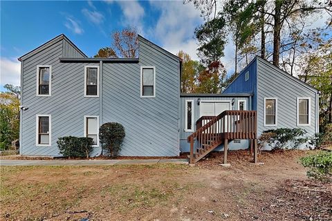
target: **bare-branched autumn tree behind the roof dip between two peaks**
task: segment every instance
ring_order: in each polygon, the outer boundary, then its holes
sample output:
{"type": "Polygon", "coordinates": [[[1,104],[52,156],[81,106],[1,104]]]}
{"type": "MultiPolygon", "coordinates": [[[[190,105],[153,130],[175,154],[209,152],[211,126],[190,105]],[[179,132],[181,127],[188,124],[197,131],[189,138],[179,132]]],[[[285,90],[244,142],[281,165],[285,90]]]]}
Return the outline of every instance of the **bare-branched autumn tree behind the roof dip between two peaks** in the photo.
{"type": "Polygon", "coordinates": [[[111,35],[112,46],[100,48],[94,57],[138,57],[138,38],[134,28],[124,28],[111,35]]]}

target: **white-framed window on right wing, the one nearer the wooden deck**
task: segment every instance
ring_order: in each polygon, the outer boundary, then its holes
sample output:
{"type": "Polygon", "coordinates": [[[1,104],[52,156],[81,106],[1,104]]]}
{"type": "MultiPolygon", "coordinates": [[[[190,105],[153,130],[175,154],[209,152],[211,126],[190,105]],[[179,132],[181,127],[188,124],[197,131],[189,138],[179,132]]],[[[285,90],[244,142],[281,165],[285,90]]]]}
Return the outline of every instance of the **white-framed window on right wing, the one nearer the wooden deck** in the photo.
{"type": "Polygon", "coordinates": [[[264,126],[277,126],[277,97],[264,97],[264,126]]]}

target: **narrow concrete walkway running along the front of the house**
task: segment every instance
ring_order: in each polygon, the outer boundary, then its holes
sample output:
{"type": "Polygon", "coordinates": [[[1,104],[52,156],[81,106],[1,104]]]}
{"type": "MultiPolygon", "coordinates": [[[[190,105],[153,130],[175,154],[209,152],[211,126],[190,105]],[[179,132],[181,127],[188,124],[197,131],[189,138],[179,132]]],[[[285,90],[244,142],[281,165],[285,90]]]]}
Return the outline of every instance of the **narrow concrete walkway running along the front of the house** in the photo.
{"type": "Polygon", "coordinates": [[[188,164],[188,160],[0,160],[0,166],[112,166],[145,164],[188,164]]]}

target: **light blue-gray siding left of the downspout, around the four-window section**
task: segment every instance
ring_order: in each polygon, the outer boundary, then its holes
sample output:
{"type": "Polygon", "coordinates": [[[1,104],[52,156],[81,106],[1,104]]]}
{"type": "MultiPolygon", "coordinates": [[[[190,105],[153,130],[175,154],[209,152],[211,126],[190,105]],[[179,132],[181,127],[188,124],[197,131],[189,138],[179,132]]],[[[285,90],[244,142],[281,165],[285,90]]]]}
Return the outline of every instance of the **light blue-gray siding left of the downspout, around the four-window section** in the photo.
{"type": "MultiPolygon", "coordinates": [[[[26,59],[23,65],[21,154],[59,155],[57,138],[84,135],[84,115],[99,115],[99,99],[84,97],[84,65],[60,63],[62,41],[26,59]],[[52,96],[37,97],[37,65],[52,66],[52,96]],[[37,114],[51,115],[52,146],[36,146],[37,114]]],[[[96,65],[96,64],[93,64],[96,65]]],[[[98,65],[98,64],[97,64],[98,65]]]]}

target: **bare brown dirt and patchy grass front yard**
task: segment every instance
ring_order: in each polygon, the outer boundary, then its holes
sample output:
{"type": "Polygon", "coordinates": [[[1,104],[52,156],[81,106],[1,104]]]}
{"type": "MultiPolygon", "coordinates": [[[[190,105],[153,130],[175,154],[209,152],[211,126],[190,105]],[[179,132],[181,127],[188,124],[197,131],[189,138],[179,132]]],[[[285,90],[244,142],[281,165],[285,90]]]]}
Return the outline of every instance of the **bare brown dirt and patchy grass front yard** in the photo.
{"type": "Polygon", "coordinates": [[[221,153],[196,166],[1,166],[0,220],[331,220],[332,186],[298,164],[315,151],[221,153]]]}

